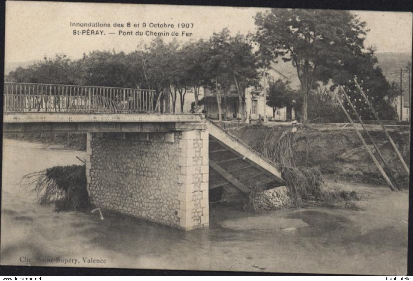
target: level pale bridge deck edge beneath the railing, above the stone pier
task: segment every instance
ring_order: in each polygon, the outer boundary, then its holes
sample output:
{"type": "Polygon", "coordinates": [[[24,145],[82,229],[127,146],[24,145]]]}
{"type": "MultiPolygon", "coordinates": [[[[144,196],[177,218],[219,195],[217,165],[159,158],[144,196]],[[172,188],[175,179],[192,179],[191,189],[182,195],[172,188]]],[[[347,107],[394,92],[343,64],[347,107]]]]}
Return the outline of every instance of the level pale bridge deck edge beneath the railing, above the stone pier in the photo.
{"type": "Polygon", "coordinates": [[[170,132],[205,130],[198,114],[169,113],[5,113],[3,130],[9,133],[41,132],[170,132]]]}

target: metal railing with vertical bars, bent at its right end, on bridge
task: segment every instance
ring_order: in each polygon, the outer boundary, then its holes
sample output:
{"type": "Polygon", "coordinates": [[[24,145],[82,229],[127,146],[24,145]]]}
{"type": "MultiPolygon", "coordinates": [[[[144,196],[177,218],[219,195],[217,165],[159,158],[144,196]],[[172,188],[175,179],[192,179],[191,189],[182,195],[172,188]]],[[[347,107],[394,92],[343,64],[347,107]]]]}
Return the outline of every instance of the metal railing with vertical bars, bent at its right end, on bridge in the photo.
{"type": "Polygon", "coordinates": [[[5,82],[4,112],[159,112],[155,94],[144,89],[5,82]]]}

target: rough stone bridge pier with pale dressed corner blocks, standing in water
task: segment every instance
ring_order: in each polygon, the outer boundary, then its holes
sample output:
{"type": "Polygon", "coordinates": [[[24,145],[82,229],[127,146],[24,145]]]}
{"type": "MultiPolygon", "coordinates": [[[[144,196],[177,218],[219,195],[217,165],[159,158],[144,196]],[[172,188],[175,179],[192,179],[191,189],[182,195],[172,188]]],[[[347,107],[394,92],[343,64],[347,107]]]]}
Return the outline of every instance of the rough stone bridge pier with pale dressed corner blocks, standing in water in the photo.
{"type": "Polygon", "coordinates": [[[186,231],[209,226],[207,130],[88,132],[86,154],[97,207],[186,231]]]}

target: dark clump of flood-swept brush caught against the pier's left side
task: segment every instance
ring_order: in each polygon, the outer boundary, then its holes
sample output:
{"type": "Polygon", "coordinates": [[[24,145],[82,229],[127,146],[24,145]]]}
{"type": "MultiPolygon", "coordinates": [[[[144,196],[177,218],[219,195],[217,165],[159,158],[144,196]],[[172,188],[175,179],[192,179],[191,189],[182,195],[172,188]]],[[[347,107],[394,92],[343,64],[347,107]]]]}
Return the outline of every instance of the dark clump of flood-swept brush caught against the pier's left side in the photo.
{"type": "Polygon", "coordinates": [[[55,204],[56,211],[82,211],[90,207],[85,165],[47,168],[25,175],[22,183],[32,188],[40,204],[55,204]]]}

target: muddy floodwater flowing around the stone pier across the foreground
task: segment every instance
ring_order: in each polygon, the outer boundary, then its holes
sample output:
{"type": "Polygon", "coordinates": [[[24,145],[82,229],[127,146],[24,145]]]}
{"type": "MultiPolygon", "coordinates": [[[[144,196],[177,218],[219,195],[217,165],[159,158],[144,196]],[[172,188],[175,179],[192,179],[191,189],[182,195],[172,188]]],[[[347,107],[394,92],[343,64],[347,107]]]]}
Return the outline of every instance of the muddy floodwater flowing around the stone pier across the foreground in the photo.
{"type": "Polygon", "coordinates": [[[210,228],[190,232],[114,214],[55,212],[21,177],[80,164],[71,151],[3,141],[1,264],[331,274],[404,275],[408,192],[331,182],[357,190],[352,209],[282,209],[264,214],[218,204],[210,228]]]}

